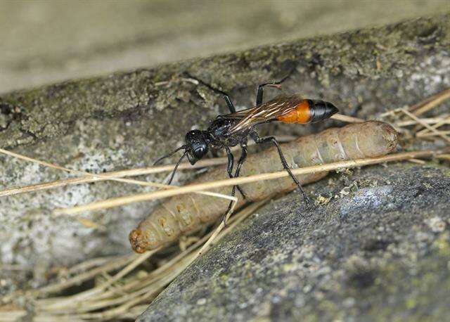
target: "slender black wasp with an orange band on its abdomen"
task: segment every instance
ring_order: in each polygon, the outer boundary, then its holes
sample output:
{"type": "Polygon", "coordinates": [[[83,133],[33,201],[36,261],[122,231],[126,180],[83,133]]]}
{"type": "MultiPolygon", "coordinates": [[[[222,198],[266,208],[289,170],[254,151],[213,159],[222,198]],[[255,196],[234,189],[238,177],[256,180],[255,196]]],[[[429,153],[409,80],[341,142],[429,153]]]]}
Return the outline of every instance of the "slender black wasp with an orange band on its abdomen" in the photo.
{"type": "MultiPolygon", "coordinates": [[[[255,143],[272,143],[276,146],[278,150],[278,156],[280,157],[281,163],[283,164],[283,169],[288,172],[290,177],[293,179],[297,187],[302,192],[305,200],[310,203],[310,199],[300,182],[290,171],[288,162],[285,160],[283,151],[281,150],[280,143],[276,140],[275,136],[260,137],[257,133],[255,127],[259,124],[269,123],[269,122],[284,122],[284,123],[298,123],[307,124],[314,122],[321,122],[328,119],[339,110],[330,102],[321,100],[311,100],[302,98],[302,96],[295,94],[291,96],[278,96],[277,98],[263,103],[264,87],[271,86],[281,89],[281,83],[287,78],[285,77],[279,82],[269,82],[260,84],[257,88],[256,102],[255,106],[252,108],[247,108],[245,110],[238,110],[231,101],[231,98],[224,91],[215,89],[214,87],[206,84],[200,79],[196,79],[191,75],[188,75],[191,79],[195,79],[200,84],[207,86],[209,89],[216,91],[223,95],[226,105],[228,106],[230,113],[226,115],[219,115],[213,120],[210,126],[206,130],[194,129],[188,131],[184,140],[185,144],[176,148],[171,153],[160,157],[155,161],[154,165],[158,164],[161,160],[165,159],[176,153],[179,150],[184,150],[183,155],[180,157],[170,176],[169,183],[174,179],[174,174],[176,169],[179,167],[180,163],[187,156],[191,165],[195,162],[205,157],[209,150],[214,151],[224,149],[228,157],[227,172],[230,178],[236,178],[239,176],[240,168],[242,167],[245,158],[247,157],[247,143],[250,137],[255,143]],[[236,170],[233,174],[234,157],[231,153],[231,147],[240,146],[242,153],[238,160],[236,170]]],[[[236,188],[243,198],[245,198],[245,192],[240,186],[233,186],[231,195],[236,194],[236,188]]],[[[230,202],[229,210],[231,209],[232,203],[230,202]]],[[[228,211],[227,211],[228,212],[228,211]]]]}

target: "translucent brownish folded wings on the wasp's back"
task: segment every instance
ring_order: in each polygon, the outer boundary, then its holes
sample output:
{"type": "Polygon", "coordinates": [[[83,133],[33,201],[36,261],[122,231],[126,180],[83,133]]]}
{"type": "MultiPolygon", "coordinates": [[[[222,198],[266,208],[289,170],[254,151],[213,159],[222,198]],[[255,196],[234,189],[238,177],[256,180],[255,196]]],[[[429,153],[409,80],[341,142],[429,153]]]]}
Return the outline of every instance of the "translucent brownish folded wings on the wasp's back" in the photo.
{"type": "Polygon", "coordinates": [[[231,120],[239,120],[229,129],[229,134],[232,134],[237,131],[254,127],[257,124],[276,121],[278,117],[295,110],[302,100],[303,98],[300,95],[282,96],[266,103],[259,104],[253,108],[222,115],[222,117],[231,120]]]}

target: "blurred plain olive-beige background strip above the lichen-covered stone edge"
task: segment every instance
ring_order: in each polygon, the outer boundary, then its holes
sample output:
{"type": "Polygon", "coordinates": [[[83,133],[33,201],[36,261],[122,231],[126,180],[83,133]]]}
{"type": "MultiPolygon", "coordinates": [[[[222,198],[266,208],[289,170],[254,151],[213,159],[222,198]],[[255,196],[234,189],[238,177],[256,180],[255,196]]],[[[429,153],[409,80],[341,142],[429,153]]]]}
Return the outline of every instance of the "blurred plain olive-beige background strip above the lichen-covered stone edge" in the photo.
{"type": "Polygon", "coordinates": [[[1,1],[0,93],[448,10],[447,0],[1,1]]]}

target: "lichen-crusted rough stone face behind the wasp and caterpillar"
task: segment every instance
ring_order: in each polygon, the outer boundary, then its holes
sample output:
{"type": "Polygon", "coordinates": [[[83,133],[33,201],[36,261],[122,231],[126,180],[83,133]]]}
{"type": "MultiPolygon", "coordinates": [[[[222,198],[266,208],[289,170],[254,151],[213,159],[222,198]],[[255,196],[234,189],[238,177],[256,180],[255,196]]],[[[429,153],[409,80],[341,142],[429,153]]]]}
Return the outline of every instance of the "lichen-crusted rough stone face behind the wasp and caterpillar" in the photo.
{"type": "MultiPolygon", "coordinates": [[[[253,103],[257,84],[293,71],[286,92],[333,101],[347,115],[371,118],[450,86],[449,51],[446,14],[15,91],[0,97],[0,146],[92,172],[142,167],[179,146],[189,129],[226,112],[221,98],[186,80],[186,72],[229,91],[242,108],[253,103]]],[[[269,91],[268,98],[276,94],[269,91]]],[[[272,125],[262,134],[306,134],[338,124],[272,125]]],[[[4,155],[0,171],[1,187],[65,176],[4,155]]],[[[0,262],[20,264],[45,280],[49,266],[128,252],[127,234],[151,202],[86,214],[101,225],[97,229],[54,217],[51,210],[142,190],[102,182],[1,198],[0,262]]]]}

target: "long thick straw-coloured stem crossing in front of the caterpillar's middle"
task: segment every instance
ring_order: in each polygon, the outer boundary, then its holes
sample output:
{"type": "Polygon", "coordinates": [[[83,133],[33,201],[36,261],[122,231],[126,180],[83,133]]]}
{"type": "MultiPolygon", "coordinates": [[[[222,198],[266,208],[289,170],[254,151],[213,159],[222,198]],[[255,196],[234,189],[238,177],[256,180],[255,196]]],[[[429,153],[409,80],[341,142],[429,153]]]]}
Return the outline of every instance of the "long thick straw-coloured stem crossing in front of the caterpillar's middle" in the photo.
{"type": "MultiPolygon", "coordinates": [[[[303,167],[300,169],[292,169],[291,171],[295,175],[310,174],[310,173],[315,173],[315,172],[333,171],[336,169],[349,168],[349,167],[361,167],[364,165],[375,165],[377,163],[382,163],[382,162],[406,160],[411,157],[413,157],[413,158],[429,157],[429,156],[435,155],[437,153],[439,153],[439,151],[436,151],[436,150],[415,151],[415,152],[408,152],[408,153],[396,153],[393,155],[386,155],[384,157],[373,157],[373,158],[366,158],[366,159],[359,159],[359,160],[347,160],[347,161],[333,162],[333,163],[328,163],[326,165],[315,165],[315,166],[311,166],[311,167],[303,167]]],[[[105,208],[110,208],[110,207],[117,207],[120,205],[127,205],[131,202],[139,202],[139,201],[154,200],[154,199],[159,199],[159,198],[167,198],[172,195],[179,195],[179,194],[183,194],[183,193],[192,193],[194,191],[220,188],[223,186],[240,185],[240,184],[250,183],[250,182],[255,182],[255,181],[278,179],[278,178],[282,178],[284,176],[288,176],[288,173],[285,171],[281,171],[281,172],[272,172],[272,173],[266,173],[266,174],[255,174],[253,176],[243,176],[243,177],[233,178],[233,179],[223,179],[223,180],[217,180],[217,181],[211,181],[211,182],[205,182],[205,183],[196,183],[196,184],[178,187],[178,188],[174,188],[174,189],[169,189],[169,190],[165,190],[165,191],[153,191],[150,193],[141,193],[138,195],[130,195],[127,197],[111,198],[111,199],[102,200],[99,202],[92,202],[87,205],[59,209],[59,210],[56,210],[55,213],[56,214],[77,214],[79,212],[84,212],[84,211],[89,211],[89,210],[100,210],[100,209],[105,209],[105,208]]]]}

